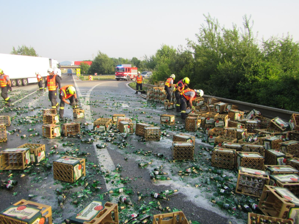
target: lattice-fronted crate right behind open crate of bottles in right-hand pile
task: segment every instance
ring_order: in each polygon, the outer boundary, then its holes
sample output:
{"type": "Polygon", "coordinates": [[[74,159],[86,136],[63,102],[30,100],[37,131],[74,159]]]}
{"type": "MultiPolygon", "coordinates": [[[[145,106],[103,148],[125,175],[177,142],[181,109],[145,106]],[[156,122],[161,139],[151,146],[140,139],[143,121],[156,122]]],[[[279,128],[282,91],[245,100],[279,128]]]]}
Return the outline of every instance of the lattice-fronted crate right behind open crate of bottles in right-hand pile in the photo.
{"type": "Polygon", "coordinates": [[[236,152],[237,167],[247,167],[257,170],[263,170],[265,158],[257,152],[236,152]]]}

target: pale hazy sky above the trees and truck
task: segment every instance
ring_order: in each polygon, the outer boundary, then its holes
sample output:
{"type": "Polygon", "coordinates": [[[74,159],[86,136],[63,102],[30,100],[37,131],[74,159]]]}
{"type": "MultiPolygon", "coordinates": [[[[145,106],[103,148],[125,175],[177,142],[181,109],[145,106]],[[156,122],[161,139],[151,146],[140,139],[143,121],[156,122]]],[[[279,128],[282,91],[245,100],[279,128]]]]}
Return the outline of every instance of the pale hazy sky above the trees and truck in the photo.
{"type": "Polygon", "coordinates": [[[196,40],[203,14],[226,28],[251,15],[258,39],[289,32],[299,40],[299,1],[0,1],[0,53],[27,45],[39,56],[62,62],[109,57],[143,59],[161,44],[186,46],[196,40]]]}

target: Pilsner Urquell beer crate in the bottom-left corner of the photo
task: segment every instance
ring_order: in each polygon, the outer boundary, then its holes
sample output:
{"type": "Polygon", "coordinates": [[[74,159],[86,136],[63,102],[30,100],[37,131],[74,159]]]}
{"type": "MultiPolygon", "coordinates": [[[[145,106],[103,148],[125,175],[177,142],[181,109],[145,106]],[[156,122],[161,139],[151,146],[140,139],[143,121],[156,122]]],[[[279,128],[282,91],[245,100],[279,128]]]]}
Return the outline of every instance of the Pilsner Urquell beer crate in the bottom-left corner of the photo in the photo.
{"type": "Polygon", "coordinates": [[[0,223],[3,224],[52,224],[52,209],[49,205],[22,199],[0,212],[0,223]]]}

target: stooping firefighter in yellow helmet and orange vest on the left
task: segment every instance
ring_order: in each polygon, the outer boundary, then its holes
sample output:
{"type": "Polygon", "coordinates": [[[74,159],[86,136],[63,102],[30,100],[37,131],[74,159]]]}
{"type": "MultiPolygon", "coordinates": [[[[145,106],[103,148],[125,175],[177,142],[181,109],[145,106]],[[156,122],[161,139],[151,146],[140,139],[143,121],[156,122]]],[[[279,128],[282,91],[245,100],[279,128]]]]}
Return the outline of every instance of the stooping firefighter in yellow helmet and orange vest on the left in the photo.
{"type": "Polygon", "coordinates": [[[71,105],[73,109],[77,108],[78,99],[77,99],[76,89],[75,87],[73,87],[73,85],[62,86],[59,89],[59,99],[60,99],[60,105],[59,105],[60,118],[63,118],[65,104],[71,105]],[[70,102],[68,102],[67,99],[69,99],[70,102]]]}

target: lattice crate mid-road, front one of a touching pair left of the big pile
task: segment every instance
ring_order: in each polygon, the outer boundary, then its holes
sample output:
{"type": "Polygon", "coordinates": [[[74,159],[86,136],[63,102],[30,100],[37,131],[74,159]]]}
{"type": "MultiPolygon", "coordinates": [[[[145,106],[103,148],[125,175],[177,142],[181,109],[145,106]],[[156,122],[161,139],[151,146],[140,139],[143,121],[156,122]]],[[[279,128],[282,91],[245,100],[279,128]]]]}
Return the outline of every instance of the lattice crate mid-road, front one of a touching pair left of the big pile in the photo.
{"type": "Polygon", "coordinates": [[[172,142],[172,156],[177,160],[193,160],[194,145],[191,142],[172,142]]]}

